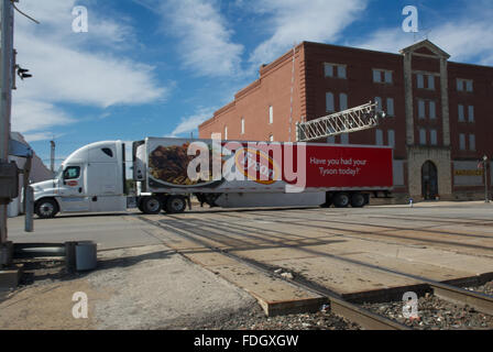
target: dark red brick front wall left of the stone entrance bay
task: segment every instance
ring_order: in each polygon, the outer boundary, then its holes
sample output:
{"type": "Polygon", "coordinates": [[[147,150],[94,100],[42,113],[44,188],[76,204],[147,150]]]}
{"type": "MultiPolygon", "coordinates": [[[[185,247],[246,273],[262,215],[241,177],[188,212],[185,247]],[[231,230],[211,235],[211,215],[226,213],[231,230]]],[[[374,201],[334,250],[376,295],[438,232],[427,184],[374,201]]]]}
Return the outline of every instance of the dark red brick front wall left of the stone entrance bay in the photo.
{"type": "MultiPolygon", "coordinates": [[[[348,95],[348,107],[357,107],[381,97],[385,107],[386,98],[394,98],[395,117],[388,118],[379,127],[383,131],[384,144],[387,144],[387,131],[394,130],[395,157],[406,156],[406,122],[404,100],[404,72],[401,55],[379,53],[352,47],[305,43],[307,85],[307,119],[322,117],[326,113],[326,92],[335,95],[336,109],[339,110],[339,94],[348,95]],[[347,65],[347,79],[325,77],[324,64],[347,65]],[[373,68],[393,72],[392,84],[373,82],[373,68]],[[401,143],[399,143],[401,142],[401,143]]],[[[340,138],[336,138],[340,142],[340,138]]],[[[375,130],[351,133],[351,144],[375,144],[375,130]]]]}

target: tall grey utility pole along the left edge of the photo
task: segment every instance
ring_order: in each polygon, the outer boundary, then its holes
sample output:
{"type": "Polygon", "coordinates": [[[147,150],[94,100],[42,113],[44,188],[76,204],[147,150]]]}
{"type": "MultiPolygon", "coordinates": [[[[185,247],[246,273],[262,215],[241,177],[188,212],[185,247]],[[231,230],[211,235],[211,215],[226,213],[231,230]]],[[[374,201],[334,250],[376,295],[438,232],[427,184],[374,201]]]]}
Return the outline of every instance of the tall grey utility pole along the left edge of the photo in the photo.
{"type": "MultiPolygon", "coordinates": [[[[13,6],[11,0],[0,0],[0,164],[9,162],[10,114],[13,79],[13,6]]],[[[8,258],[7,206],[11,199],[0,199],[0,266],[8,258]]]]}

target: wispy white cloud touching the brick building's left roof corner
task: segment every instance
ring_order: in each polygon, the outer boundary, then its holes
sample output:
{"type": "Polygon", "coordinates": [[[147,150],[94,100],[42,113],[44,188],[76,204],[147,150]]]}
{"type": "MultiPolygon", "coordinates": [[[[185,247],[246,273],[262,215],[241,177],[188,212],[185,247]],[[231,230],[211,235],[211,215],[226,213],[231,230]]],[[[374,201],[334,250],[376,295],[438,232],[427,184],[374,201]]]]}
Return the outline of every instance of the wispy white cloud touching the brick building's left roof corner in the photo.
{"type": "Polygon", "coordinates": [[[254,7],[264,14],[269,40],[261,43],[250,62],[254,66],[269,63],[303,41],[336,42],[341,32],[366,7],[368,0],[271,0],[256,1],[254,7]]]}

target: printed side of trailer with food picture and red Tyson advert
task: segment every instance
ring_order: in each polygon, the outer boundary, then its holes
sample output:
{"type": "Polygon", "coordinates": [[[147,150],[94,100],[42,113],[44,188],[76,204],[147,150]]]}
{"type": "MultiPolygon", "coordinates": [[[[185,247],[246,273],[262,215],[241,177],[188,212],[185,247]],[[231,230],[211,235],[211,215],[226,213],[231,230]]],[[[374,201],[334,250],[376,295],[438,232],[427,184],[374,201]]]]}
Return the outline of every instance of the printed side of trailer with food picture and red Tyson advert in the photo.
{"type": "MultiPolygon", "coordinates": [[[[220,174],[215,179],[211,140],[149,139],[150,189],[284,191],[286,185],[320,190],[376,189],[388,188],[393,184],[390,147],[222,142],[220,150],[216,152],[220,160],[220,174]],[[188,155],[190,144],[197,142],[206,146],[208,155],[204,155],[204,148],[188,155]],[[188,168],[199,156],[207,161],[200,165],[208,166],[208,170],[206,175],[201,174],[201,178],[190,179],[188,168]]],[[[199,168],[197,173],[204,172],[199,168]]]]}

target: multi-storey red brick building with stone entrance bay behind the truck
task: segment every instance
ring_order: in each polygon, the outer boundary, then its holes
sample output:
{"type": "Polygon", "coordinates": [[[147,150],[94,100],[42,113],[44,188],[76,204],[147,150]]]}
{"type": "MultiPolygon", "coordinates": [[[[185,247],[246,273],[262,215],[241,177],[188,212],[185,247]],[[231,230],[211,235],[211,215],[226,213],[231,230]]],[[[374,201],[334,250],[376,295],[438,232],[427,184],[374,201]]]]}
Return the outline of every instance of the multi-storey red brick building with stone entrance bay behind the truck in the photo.
{"type": "Polygon", "coordinates": [[[493,156],[493,67],[449,58],[429,41],[401,54],[304,42],[263,65],[199,135],[294,142],[298,121],[377,101],[388,116],[377,129],[322,142],[394,146],[403,199],[484,199],[478,163],[493,156]]]}

